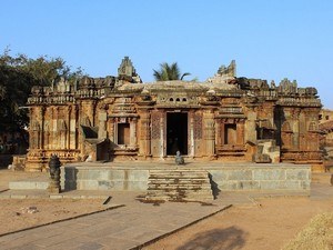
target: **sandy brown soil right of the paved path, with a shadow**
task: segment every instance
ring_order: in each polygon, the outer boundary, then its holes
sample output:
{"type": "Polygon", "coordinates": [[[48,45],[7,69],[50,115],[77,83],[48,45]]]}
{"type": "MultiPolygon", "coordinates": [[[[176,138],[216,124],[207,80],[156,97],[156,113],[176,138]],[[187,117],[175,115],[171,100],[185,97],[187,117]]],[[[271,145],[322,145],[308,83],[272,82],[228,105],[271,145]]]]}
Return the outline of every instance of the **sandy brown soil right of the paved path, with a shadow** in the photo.
{"type": "Polygon", "coordinates": [[[281,249],[312,217],[333,211],[333,199],[270,198],[258,202],[258,206],[233,207],[144,250],[281,249]]]}

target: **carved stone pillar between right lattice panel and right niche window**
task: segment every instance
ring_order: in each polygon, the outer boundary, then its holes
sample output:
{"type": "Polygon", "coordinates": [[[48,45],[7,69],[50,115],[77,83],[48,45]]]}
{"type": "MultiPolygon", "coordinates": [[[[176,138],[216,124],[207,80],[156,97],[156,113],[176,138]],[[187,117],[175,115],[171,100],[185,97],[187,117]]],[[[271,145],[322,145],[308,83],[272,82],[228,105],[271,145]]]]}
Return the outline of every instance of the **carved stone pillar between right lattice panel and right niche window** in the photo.
{"type": "Polygon", "coordinates": [[[205,154],[209,158],[213,158],[215,156],[214,113],[210,110],[203,112],[203,120],[204,120],[205,154]]]}

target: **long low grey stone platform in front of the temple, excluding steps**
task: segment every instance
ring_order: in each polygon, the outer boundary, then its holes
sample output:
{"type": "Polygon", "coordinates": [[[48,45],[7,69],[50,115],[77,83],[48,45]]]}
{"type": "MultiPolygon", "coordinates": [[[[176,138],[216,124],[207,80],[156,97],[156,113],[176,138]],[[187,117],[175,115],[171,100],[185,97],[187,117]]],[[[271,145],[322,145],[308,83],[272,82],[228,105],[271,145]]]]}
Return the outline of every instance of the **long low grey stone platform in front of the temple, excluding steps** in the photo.
{"type": "Polygon", "coordinates": [[[311,166],[292,163],[80,162],[62,167],[63,190],[145,191],[152,170],[206,171],[218,191],[310,192],[311,166]]]}

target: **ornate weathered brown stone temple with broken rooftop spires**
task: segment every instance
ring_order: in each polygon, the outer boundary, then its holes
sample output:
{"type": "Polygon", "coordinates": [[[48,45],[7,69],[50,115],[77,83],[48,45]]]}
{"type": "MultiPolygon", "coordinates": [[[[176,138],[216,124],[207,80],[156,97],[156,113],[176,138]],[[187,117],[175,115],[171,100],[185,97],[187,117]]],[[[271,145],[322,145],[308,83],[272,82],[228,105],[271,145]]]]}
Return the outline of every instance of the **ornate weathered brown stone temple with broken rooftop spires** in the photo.
{"type": "Polygon", "coordinates": [[[125,57],[118,77],[34,87],[26,168],[46,169],[52,153],[61,162],[174,161],[178,150],[185,162],[320,166],[316,90],[236,78],[235,67],[222,66],[205,82],[142,83],[125,57]]]}

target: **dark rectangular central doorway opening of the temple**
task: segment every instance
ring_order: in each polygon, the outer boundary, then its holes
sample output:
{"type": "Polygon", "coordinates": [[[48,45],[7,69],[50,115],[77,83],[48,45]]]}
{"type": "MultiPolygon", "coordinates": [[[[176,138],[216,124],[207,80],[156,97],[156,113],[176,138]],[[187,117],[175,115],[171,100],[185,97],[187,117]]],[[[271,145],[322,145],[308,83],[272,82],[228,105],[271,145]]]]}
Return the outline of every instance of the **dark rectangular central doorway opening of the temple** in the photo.
{"type": "Polygon", "coordinates": [[[167,113],[167,154],[188,154],[188,113],[167,113]]]}

